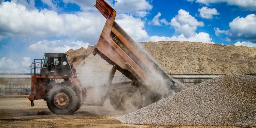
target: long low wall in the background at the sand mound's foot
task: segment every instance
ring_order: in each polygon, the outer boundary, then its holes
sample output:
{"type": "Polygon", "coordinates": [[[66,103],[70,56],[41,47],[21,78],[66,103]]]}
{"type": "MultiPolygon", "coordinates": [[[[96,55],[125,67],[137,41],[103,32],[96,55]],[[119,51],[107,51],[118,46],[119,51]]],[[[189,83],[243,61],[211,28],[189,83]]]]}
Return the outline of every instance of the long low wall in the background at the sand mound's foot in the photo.
{"type": "MultiPolygon", "coordinates": [[[[175,81],[181,82],[184,85],[191,87],[203,81],[225,75],[225,74],[170,74],[168,76],[175,81]]],[[[256,74],[247,74],[256,76],[256,74]]],[[[77,77],[82,80],[104,80],[109,76],[83,76],[77,74],[77,77]]],[[[128,78],[124,76],[114,76],[113,82],[124,82],[128,78]]],[[[0,96],[1,95],[30,95],[31,93],[31,73],[0,73],[0,96]]]]}

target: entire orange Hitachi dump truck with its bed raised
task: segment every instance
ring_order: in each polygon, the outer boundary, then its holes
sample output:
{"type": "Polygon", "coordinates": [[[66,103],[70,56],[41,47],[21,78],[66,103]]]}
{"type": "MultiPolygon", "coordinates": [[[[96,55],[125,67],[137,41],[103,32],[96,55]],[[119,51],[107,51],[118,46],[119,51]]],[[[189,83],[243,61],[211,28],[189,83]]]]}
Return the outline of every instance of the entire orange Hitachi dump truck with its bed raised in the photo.
{"type": "MultiPolygon", "coordinates": [[[[95,88],[83,88],[76,70],[65,53],[45,53],[44,59],[34,59],[31,68],[29,100],[44,99],[53,113],[73,114],[81,105],[103,106],[106,99],[116,111],[135,111],[175,93],[174,81],[154,59],[115,22],[116,11],[104,0],[96,0],[95,7],[106,18],[93,54],[100,55],[113,65],[100,93],[95,88]],[[130,82],[112,83],[116,70],[130,82]],[[90,102],[93,92],[100,100],[90,102]]],[[[100,81],[100,80],[99,80],[100,81]]]]}

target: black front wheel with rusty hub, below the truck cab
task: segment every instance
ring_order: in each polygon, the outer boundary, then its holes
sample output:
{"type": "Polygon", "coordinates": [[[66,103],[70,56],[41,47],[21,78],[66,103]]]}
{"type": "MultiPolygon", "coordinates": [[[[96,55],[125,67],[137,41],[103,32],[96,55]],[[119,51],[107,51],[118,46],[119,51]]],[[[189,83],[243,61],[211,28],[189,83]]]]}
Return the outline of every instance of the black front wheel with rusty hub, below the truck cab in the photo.
{"type": "Polygon", "coordinates": [[[46,96],[46,103],[54,114],[67,115],[76,111],[79,105],[78,99],[75,89],[64,85],[50,89],[46,96]]]}

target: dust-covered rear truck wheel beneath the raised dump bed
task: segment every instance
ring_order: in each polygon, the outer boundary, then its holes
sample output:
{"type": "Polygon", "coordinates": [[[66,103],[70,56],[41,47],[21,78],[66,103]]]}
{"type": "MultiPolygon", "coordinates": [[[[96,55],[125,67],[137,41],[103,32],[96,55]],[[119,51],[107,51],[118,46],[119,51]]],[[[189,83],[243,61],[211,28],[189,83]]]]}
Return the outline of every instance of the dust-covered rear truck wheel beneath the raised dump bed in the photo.
{"type": "Polygon", "coordinates": [[[110,96],[110,103],[116,111],[130,113],[142,108],[142,94],[131,84],[118,85],[110,96]]]}

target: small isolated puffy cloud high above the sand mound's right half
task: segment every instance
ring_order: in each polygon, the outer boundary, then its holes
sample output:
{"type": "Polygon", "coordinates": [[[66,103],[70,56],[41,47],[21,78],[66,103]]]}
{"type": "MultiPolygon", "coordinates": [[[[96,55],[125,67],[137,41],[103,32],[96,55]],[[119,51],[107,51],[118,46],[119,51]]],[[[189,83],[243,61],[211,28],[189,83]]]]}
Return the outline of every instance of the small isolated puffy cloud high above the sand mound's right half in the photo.
{"type": "Polygon", "coordinates": [[[204,6],[201,9],[198,9],[198,12],[200,12],[199,15],[205,19],[212,19],[214,18],[213,15],[219,15],[219,13],[215,8],[209,9],[207,6],[204,6]]]}

